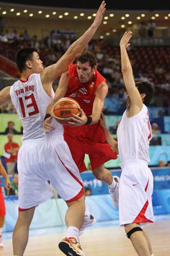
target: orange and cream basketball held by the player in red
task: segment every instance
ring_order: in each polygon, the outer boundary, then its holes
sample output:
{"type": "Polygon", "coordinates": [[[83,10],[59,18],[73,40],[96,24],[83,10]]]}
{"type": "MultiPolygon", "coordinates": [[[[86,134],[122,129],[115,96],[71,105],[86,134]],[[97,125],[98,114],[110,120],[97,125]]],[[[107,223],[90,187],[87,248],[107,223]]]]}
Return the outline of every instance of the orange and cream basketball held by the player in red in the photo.
{"type": "Polygon", "coordinates": [[[52,109],[53,117],[62,125],[67,125],[71,115],[80,115],[80,106],[73,98],[61,98],[52,109]]]}

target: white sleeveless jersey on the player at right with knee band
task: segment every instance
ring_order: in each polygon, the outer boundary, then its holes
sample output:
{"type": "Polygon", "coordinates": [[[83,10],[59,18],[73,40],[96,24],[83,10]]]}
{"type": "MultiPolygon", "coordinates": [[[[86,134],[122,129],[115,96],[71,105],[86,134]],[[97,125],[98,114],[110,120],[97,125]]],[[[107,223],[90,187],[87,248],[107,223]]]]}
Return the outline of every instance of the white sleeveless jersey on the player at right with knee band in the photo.
{"type": "Polygon", "coordinates": [[[117,142],[121,163],[126,160],[145,160],[150,162],[148,155],[149,142],[152,138],[148,109],[143,104],[141,111],[128,118],[126,110],[122,115],[117,129],[117,142]]]}

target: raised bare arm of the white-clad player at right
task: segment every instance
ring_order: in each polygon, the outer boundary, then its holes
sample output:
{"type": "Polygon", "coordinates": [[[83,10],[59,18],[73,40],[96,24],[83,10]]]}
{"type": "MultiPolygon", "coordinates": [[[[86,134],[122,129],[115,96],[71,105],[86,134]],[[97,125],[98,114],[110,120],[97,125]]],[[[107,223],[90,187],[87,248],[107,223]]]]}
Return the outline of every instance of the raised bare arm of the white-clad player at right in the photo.
{"type": "Polygon", "coordinates": [[[120,41],[120,50],[121,50],[121,69],[122,75],[124,78],[126,90],[130,98],[130,111],[131,115],[137,114],[143,106],[142,98],[139,94],[137,87],[135,86],[133,70],[130,64],[128,52],[126,48],[130,46],[129,40],[131,38],[132,32],[125,32],[120,41]]]}

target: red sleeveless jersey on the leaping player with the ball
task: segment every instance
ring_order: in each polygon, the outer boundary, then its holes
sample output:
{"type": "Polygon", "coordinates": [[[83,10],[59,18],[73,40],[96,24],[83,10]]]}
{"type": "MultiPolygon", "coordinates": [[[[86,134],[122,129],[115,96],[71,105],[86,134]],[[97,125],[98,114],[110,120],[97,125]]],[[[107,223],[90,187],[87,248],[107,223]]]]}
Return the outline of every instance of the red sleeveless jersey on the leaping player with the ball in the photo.
{"type": "Polygon", "coordinates": [[[69,65],[69,86],[65,97],[73,98],[78,102],[86,115],[92,114],[92,108],[95,100],[95,90],[101,82],[106,81],[98,71],[87,84],[82,84],[78,79],[76,64],[69,65]]]}

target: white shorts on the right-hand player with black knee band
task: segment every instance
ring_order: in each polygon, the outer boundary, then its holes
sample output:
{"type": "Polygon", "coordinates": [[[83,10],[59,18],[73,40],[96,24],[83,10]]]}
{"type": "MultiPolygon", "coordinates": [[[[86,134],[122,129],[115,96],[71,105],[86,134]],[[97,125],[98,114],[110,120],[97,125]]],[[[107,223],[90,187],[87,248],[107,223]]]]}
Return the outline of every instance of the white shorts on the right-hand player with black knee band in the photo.
{"type": "Polygon", "coordinates": [[[121,164],[119,187],[120,225],[153,222],[153,176],[143,160],[121,164]]]}

